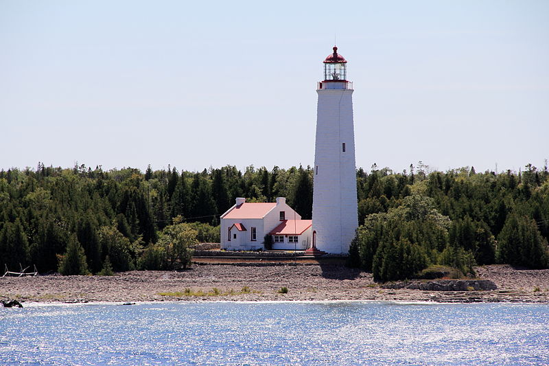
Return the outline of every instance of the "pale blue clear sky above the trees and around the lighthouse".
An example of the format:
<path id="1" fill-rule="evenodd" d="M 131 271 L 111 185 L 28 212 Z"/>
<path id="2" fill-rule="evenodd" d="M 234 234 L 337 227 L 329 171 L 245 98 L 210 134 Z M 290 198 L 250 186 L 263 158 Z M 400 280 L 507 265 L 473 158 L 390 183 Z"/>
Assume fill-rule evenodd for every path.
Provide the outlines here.
<path id="1" fill-rule="evenodd" d="M 0 0 L 0 170 L 313 165 L 334 42 L 358 167 L 549 159 L 549 1 Z"/>

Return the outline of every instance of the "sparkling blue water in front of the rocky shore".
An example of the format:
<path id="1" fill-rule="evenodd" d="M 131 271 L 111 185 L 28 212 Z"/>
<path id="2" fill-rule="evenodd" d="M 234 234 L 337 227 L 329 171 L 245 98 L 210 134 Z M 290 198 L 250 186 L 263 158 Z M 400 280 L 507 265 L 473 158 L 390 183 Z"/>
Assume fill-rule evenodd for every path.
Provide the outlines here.
<path id="1" fill-rule="evenodd" d="M 549 305 L 0 308 L 1 365 L 549 365 Z"/>

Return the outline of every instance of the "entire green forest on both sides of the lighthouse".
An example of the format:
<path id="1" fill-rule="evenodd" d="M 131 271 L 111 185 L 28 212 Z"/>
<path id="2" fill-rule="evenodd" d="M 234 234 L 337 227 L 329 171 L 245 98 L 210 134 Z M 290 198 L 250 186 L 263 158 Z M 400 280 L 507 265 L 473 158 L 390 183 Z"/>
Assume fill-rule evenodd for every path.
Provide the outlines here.
<path id="1" fill-rule="evenodd" d="M 219 242 L 219 217 L 235 202 L 285 196 L 312 216 L 310 167 L 202 172 L 85 165 L 0 171 L 0 264 L 41 273 L 100 273 L 185 266 L 196 242 Z M 351 264 L 379 280 L 409 278 L 430 264 L 547 268 L 549 172 L 474 168 L 431 172 L 357 170 L 360 227 Z"/>

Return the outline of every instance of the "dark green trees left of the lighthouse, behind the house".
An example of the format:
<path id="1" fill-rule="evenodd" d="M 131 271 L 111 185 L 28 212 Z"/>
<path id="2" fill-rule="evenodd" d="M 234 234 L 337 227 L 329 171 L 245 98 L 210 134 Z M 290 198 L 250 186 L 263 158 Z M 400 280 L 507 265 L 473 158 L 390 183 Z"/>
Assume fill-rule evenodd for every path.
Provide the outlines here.
<path id="1" fill-rule="evenodd" d="M 85 165 L 0 171 L 0 264 L 40 273 L 186 266 L 196 242 L 219 242 L 237 196 L 288 203 L 310 218 L 312 170 L 234 166 L 202 172 Z M 297 199 L 299 198 L 299 199 Z"/>

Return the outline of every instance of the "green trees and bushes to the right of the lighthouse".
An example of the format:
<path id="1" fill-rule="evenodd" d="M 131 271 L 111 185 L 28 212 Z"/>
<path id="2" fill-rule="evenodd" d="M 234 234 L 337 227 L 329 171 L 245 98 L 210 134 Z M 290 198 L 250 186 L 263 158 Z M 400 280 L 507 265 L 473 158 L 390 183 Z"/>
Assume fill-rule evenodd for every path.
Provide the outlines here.
<path id="1" fill-rule="evenodd" d="M 351 263 L 381 281 L 406 279 L 429 265 L 473 273 L 477 264 L 548 268 L 549 172 L 393 173 L 358 170 L 360 225 Z"/>

